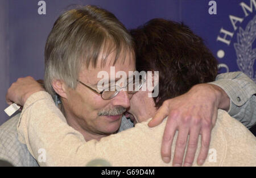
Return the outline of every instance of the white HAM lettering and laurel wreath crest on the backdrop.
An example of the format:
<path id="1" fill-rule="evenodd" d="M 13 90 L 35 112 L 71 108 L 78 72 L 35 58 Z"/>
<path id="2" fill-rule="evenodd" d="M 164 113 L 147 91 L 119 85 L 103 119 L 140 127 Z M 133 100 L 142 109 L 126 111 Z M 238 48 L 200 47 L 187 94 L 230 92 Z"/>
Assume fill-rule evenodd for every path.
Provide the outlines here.
<path id="1" fill-rule="evenodd" d="M 249 2 L 249 3 L 248 3 Z M 247 3 L 240 2 L 239 5 L 244 13 L 244 16 L 229 15 L 230 22 L 233 26 L 234 31 L 225 30 L 221 28 L 220 33 L 217 36 L 217 42 L 225 43 L 229 47 L 234 47 L 236 52 L 237 67 L 241 72 L 247 74 L 254 82 L 256 82 L 256 68 L 254 69 L 256 60 L 256 0 L 248 0 Z M 249 22 L 241 26 L 241 23 L 247 18 Z M 234 39 L 233 39 L 234 38 Z M 234 40 L 233 45 L 230 45 L 232 39 Z M 224 57 L 225 52 L 220 49 L 217 52 L 217 57 Z M 219 64 L 219 68 L 226 68 L 229 72 L 228 65 L 222 63 Z"/>

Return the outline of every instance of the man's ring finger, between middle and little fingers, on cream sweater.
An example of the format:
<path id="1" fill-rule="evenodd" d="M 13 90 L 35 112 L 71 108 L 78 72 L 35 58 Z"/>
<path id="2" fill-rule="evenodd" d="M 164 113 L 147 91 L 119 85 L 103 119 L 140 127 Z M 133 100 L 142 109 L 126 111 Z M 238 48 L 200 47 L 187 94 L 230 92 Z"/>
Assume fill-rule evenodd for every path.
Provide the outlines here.
<path id="1" fill-rule="evenodd" d="M 195 159 L 200 127 L 192 128 L 189 133 L 188 148 L 184 160 L 184 166 L 191 166 Z"/>

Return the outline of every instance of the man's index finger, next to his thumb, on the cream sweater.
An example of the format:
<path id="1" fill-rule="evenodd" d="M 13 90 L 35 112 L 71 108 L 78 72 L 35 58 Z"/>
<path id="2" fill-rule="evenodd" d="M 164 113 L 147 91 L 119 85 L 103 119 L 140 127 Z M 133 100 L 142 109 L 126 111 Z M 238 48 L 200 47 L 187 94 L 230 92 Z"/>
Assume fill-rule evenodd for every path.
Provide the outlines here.
<path id="1" fill-rule="evenodd" d="M 168 117 L 166 122 L 166 128 L 164 129 L 162 146 L 161 146 L 161 156 L 163 162 L 170 163 L 171 160 L 171 148 L 172 142 L 174 140 L 174 135 L 176 133 L 176 123 L 172 122 L 172 119 Z"/>

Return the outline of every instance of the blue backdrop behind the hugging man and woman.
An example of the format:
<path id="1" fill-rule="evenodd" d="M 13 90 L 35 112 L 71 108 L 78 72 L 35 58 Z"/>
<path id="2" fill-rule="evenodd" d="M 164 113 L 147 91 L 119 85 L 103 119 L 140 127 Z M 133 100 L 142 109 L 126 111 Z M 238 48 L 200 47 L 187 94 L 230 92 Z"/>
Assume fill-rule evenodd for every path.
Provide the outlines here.
<path id="1" fill-rule="evenodd" d="M 256 81 L 256 0 L 0 0 L 0 124 L 5 94 L 18 77 L 43 78 L 44 45 L 57 16 L 69 5 L 98 5 L 114 13 L 127 28 L 152 18 L 184 22 L 205 40 L 220 63 L 220 72 L 242 71 Z"/>

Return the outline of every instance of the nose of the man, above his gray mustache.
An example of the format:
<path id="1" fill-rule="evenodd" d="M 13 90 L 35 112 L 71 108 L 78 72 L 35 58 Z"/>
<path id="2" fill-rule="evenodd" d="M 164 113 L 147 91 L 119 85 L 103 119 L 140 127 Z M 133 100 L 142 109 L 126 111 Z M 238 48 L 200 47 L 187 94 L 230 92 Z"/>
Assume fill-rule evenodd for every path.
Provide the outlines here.
<path id="1" fill-rule="evenodd" d="M 128 108 L 130 107 L 130 94 L 127 93 L 127 91 L 123 91 L 121 90 L 117 96 L 115 96 L 113 99 L 112 99 L 112 104 L 114 106 L 122 106 L 122 107 L 125 107 L 125 108 Z"/>

